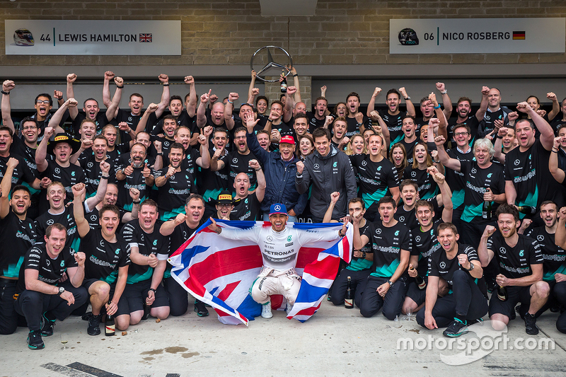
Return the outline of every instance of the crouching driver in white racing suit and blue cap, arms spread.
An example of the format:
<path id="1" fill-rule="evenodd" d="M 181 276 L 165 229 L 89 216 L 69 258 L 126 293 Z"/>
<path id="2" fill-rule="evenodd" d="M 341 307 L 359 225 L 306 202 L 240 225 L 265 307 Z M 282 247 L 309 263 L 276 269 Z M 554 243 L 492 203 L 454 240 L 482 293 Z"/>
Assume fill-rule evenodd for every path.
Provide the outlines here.
<path id="1" fill-rule="evenodd" d="M 338 234 L 335 231 L 299 230 L 287 227 L 287 209 L 284 204 L 272 204 L 270 207 L 271 226 L 253 227 L 235 230 L 223 229 L 211 218 L 211 231 L 231 240 L 249 240 L 260 246 L 263 267 L 250 289 L 253 300 L 262 304 L 261 316 L 272 318 L 271 298 L 281 294 L 287 300 L 287 313 L 291 311 L 296 296 L 301 288 L 301 278 L 295 272 L 299 249 L 306 243 L 318 240 L 336 240 L 346 234 L 346 224 Z"/>

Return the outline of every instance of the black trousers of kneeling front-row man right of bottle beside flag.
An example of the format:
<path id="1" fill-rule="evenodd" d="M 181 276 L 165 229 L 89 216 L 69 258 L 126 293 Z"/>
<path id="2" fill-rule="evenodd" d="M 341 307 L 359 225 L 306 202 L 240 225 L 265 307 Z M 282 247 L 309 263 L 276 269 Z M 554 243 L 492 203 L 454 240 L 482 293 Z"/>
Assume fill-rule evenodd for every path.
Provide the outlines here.
<path id="1" fill-rule="evenodd" d="M 385 297 L 379 296 L 377 289 L 381 284 L 388 281 L 388 277 L 373 277 L 369 275 L 367 278 L 366 288 L 362 293 L 360 300 L 359 313 L 364 317 L 372 317 L 379 309 L 383 307 L 383 315 L 388 320 L 394 320 L 395 316 L 401 313 L 401 306 L 405 301 L 407 293 L 407 281 L 405 277 L 400 277 L 397 282 L 387 291 Z"/>

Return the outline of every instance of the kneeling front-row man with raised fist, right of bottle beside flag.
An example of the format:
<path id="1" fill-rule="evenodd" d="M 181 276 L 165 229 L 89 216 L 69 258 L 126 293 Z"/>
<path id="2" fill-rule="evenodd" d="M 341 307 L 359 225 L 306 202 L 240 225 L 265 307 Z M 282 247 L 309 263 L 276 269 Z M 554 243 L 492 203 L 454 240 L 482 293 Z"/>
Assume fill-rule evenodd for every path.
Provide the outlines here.
<path id="1" fill-rule="evenodd" d="M 369 224 L 359 233 L 362 214 L 354 216 L 354 250 L 361 250 L 370 243 L 374 251 L 371 274 L 362 293 L 359 313 L 369 318 L 383 307 L 383 315 L 394 320 L 401 312 L 401 304 L 407 292 L 405 269 L 409 264 L 412 240 L 409 228 L 393 218 L 395 201 L 392 197 L 379 199 L 381 222 Z"/>

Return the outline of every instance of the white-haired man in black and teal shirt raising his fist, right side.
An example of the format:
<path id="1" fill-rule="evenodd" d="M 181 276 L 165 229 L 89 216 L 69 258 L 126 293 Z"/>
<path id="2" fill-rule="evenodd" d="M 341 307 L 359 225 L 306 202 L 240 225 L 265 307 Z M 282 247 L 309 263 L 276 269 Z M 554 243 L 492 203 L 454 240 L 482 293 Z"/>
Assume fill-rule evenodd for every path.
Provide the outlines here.
<path id="1" fill-rule="evenodd" d="M 472 245 L 476 250 L 485 226 L 495 226 L 495 209 L 499 204 L 506 203 L 505 180 L 503 178 L 503 167 L 492 163 L 494 149 L 488 139 L 478 139 L 473 145 L 474 157 L 472 160 L 458 160 L 451 158 L 444 150 L 444 136 L 434 139 L 437 144 L 440 162 L 464 175 L 466 186 L 464 188 L 464 209 L 461 216 L 462 242 Z M 487 202 L 487 203 L 486 203 Z M 484 204 L 490 211 L 484 210 Z"/>

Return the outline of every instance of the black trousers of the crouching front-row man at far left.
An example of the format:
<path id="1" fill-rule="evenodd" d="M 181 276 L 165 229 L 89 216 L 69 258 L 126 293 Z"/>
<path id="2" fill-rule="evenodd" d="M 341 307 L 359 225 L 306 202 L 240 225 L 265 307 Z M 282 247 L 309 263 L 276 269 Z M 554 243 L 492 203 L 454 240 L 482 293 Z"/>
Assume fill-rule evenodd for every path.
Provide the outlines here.
<path id="1" fill-rule="evenodd" d="M 88 300 L 88 291 L 82 286 L 75 288 L 68 280 L 59 286 L 63 286 L 66 291 L 71 292 L 75 298 L 75 303 L 69 305 L 67 301 L 57 294 L 42 294 L 37 291 L 25 289 L 14 304 L 16 312 L 23 315 L 28 321 L 30 331 L 41 330 L 41 315 L 50 311 L 58 320 L 64 320 L 71 315 L 79 306 Z"/>

